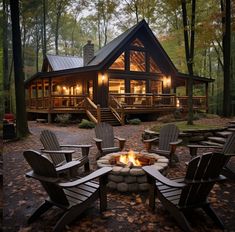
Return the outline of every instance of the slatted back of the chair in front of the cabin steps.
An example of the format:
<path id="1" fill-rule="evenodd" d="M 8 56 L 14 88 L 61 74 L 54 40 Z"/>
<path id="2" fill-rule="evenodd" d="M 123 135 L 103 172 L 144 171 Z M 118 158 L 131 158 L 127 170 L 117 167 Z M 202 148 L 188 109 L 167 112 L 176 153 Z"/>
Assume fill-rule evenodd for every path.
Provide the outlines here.
<path id="1" fill-rule="evenodd" d="M 98 123 L 95 127 L 96 138 L 102 139 L 103 148 L 114 147 L 113 127 L 105 122 Z"/>

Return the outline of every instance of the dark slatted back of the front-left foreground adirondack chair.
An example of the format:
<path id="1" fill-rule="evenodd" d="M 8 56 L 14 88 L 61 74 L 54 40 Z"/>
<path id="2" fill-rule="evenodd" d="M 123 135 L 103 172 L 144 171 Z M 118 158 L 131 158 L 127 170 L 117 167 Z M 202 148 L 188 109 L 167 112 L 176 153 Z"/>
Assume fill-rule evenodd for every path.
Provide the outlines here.
<path id="1" fill-rule="evenodd" d="M 50 200 L 60 205 L 69 205 L 63 189 L 59 188 L 56 184 L 47 182 L 48 178 L 57 178 L 55 166 L 49 159 L 42 156 L 40 153 L 28 150 L 23 153 L 24 158 L 32 168 L 35 174 L 45 177 L 45 181 L 39 180 L 50 197 Z"/>

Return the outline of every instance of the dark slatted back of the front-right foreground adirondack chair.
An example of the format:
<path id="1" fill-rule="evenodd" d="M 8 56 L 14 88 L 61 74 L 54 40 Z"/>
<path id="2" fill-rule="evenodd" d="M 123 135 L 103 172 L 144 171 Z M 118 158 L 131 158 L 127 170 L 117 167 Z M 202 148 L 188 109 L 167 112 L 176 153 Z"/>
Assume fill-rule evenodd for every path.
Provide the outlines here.
<path id="1" fill-rule="evenodd" d="M 218 180 L 226 157 L 221 153 L 206 153 L 192 159 L 185 176 L 179 206 L 197 205 L 206 201 L 213 185 Z"/>

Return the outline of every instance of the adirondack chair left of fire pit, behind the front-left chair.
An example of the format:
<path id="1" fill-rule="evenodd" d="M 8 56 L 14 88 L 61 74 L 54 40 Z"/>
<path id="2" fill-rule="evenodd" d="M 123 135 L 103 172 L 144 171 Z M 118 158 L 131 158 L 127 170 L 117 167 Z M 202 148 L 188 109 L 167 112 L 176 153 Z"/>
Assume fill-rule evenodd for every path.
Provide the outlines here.
<path id="1" fill-rule="evenodd" d="M 75 150 L 62 150 L 62 148 L 81 148 L 82 158 L 74 160 L 73 163 L 77 166 L 77 163 L 79 162 L 80 166 L 84 165 L 85 171 L 90 171 L 88 154 L 91 145 L 60 145 L 56 135 L 50 130 L 43 130 L 41 132 L 40 141 L 44 147 L 42 152 L 47 153 L 50 156 L 56 167 L 71 162 L 72 154 L 75 152 Z"/>

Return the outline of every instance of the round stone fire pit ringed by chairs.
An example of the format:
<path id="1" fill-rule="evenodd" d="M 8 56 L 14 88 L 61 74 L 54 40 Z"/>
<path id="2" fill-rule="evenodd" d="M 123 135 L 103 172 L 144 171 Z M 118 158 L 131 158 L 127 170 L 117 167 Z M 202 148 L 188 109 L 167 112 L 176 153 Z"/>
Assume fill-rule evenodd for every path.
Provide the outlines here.
<path id="1" fill-rule="evenodd" d="M 110 153 L 101 157 L 97 161 L 97 166 L 113 167 L 113 170 L 108 175 L 108 187 L 119 192 L 136 192 L 146 191 L 149 188 L 147 176 L 141 166 L 135 166 L 131 162 L 123 164 L 119 162 L 121 155 L 127 155 L 125 152 Z M 133 152 L 140 160 L 143 161 L 143 166 L 153 165 L 158 171 L 164 173 L 168 167 L 169 160 L 155 153 Z"/>

